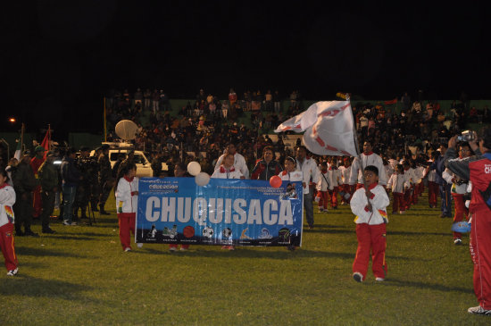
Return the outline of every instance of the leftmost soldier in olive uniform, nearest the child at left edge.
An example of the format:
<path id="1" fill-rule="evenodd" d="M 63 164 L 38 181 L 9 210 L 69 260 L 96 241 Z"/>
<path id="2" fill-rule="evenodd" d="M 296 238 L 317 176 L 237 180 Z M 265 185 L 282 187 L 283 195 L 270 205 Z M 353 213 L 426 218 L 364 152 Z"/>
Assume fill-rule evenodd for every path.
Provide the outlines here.
<path id="1" fill-rule="evenodd" d="M 37 233 L 30 230 L 32 223 L 32 191 L 37 187 L 37 180 L 30 167 L 30 152 L 25 151 L 17 170 L 13 173 L 13 185 L 17 200 L 13 205 L 15 212 L 15 235 L 39 237 Z M 24 225 L 22 232 L 21 226 Z"/>

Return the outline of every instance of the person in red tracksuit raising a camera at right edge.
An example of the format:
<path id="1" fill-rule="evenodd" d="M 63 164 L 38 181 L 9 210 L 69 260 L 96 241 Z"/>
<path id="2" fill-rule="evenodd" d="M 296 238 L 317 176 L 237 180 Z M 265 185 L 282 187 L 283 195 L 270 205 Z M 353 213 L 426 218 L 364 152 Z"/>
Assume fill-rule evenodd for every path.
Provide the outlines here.
<path id="1" fill-rule="evenodd" d="M 475 132 L 463 136 L 467 137 L 461 136 L 463 139 L 459 140 L 469 141 L 476 155 L 454 160 L 457 157 L 455 145 L 459 138 L 454 136 L 448 141 L 445 165 L 456 176 L 472 183 L 469 205 L 472 215 L 470 255 L 474 263 L 474 293 L 479 305 L 470 307 L 468 312 L 491 315 L 491 208 L 488 204 L 491 203 L 491 127 L 483 128 L 479 138 Z"/>

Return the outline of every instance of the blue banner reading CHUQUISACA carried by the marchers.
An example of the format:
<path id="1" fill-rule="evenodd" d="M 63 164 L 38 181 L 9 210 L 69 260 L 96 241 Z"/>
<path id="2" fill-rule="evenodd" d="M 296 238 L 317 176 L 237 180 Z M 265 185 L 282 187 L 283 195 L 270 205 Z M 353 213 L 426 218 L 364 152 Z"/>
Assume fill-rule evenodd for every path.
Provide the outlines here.
<path id="1" fill-rule="evenodd" d="M 302 181 L 142 178 L 136 241 L 220 246 L 296 246 L 302 243 Z"/>

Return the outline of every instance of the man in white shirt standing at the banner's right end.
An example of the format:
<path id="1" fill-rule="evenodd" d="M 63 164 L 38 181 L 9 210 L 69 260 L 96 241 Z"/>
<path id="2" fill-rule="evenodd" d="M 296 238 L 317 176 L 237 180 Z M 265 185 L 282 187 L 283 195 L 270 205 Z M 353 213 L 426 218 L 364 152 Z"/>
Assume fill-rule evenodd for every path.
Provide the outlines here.
<path id="1" fill-rule="evenodd" d="M 304 191 L 305 218 L 307 219 L 307 224 L 309 224 L 309 229 L 313 229 L 313 203 L 309 183 L 312 179 L 312 183 L 315 186 L 315 182 L 320 178 L 320 171 L 315 160 L 307 157 L 307 148 L 302 145 L 296 147 L 296 170 L 302 171 L 304 174 L 302 186 Z"/>

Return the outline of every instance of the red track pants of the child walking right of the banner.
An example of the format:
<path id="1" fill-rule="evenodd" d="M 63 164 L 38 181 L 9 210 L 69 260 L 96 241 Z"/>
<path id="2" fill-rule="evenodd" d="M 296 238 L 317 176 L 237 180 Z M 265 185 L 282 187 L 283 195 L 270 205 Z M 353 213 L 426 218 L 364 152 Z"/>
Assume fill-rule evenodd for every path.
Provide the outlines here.
<path id="1" fill-rule="evenodd" d="M 361 272 L 363 280 L 366 279 L 371 251 L 371 271 L 376 278 L 385 279 L 387 275 L 386 224 L 356 224 L 356 238 L 358 238 L 358 248 L 354 257 L 353 272 Z"/>

